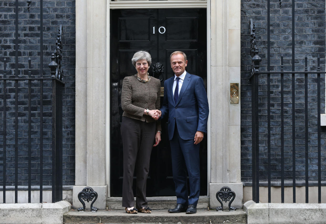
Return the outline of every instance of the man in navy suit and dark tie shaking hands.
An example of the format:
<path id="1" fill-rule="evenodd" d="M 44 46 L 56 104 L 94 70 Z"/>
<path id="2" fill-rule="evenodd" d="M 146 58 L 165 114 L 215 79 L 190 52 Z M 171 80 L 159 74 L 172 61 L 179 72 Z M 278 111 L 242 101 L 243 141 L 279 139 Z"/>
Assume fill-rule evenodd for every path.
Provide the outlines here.
<path id="1" fill-rule="evenodd" d="M 208 101 L 202 78 L 185 71 L 184 52 L 170 55 L 174 76 L 164 82 L 163 106 L 158 113 L 168 116 L 168 134 L 171 146 L 172 172 L 177 205 L 170 213 L 197 212 L 200 191 L 199 143 L 207 132 Z M 187 175 L 190 196 L 188 198 Z"/>

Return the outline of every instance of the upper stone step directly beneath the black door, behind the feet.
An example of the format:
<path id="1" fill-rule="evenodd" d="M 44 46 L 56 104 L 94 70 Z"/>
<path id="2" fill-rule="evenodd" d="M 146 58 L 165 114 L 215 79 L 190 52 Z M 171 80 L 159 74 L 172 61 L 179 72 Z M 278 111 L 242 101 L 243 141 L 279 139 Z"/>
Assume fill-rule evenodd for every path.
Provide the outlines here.
<path id="1" fill-rule="evenodd" d="M 135 198 L 136 201 L 136 198 Z M 151 209 L 170 209 L 177 203 L 177 197 L 147 197 L 148 206 Z M 108 209 L 124 210 L 122 207 L 122 197 L 110 197 L 106 200 Z M 96 204 L 94 204 L 96 206 Z M 206 209 L 209 206 L 209 196 L 200 196 L 197 204 L 198 209 Z"/>

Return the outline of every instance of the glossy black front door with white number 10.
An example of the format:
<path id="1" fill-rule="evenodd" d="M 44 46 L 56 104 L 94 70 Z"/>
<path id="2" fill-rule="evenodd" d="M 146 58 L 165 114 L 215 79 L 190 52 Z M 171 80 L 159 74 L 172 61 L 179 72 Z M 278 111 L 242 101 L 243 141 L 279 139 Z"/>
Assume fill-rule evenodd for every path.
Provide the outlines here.
<path id="1" fill-rule="evenodd" d="M 172 77 L 170 54 L 187 55 L 186 70 L 207 83 L 206 9 L 113 9 L 110 11 L 110 81 L 111 81 L 111 196 L 122 196 L 123 148 L 121 140 L 122 109 L 120 94 L 126 76 L 137 73 L 131 64 L 133 54 L 146 50 L 152 64 L 164 65 L 163 81 Z M 149 71 L 151 68 L 149 69 Z M 161 102 L 163 97 L 161 97 Z M 173 196 L 174 182 L 167 121 L 162 120 L 162 141 L 153 147 L 147 179 L 147 196 Z M 135 177 L 136 178 L 136 177 Z M 207 195 L 207 138 L 200 146 L 200 195 Z M 133 184 L 134 192 L 136 182 Z"/>

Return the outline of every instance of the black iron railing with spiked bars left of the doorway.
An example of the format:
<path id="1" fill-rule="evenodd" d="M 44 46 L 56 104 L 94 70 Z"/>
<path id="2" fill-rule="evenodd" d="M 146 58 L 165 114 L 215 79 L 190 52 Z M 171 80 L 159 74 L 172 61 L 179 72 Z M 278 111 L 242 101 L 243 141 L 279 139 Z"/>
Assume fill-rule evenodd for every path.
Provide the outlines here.
<path id="1" fill-rule="evenodd" d="M 64 86 L 61 68 L 62 26 L 59 27 L 55 44 L 56 48 L 49 64 L 51 69 L 49 77 L 43 77 L 42 66 L 35 69 L 39 70 L 39 75 L 32 76 L 30 58 L 27 77 L 19 75 L 17 53 L 15 75 L 8 77 L 7 62 L 4 59 L 3 75 L 0 78 L 2 93 L 0 97 L 2 119 L 0 120 L 3 121 L 2 125 L 0 123 L 3 129 L 0 133 L 0 136 L 2 135 L 0 147 L 3 148 L 3 203 L 6 203 L 7 190 L 15 192 L 15 203 L 18 202 L 18 190 L 27 190 L 30 203 L 32 188 L 39 190 L 41 203 L 44 186 L 52 189 L 52 202 L 62 200 L 62 88 Z M 18 44 L 16 44 L 16 49 L 18 49 Z M 42 62 L 42 50 L 40 52 Z M 24 72 L 22 71 L 21 74 Z M 52 141 L 50 141 L 51 135 Z M 52 156 L 49 156 L 50 150 Z M 46 159 L 43 157 L 44 154 L 47 156 Z M 52 172 L 43 173 L 43 167 L 48 167 L 50 164 L 52 164 Z M 26 172 L 27 175 L 25 175 Z M 47 184 L 44 185 L 44 183 Z M 49 185 L 52 187 L 49 188 Z"/>

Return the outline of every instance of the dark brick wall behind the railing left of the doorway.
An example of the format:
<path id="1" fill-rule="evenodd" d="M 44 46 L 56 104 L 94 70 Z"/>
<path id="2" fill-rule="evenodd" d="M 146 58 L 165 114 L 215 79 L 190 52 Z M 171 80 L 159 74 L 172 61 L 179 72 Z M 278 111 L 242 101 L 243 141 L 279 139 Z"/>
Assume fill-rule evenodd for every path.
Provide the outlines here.
<path id="1" fill-rule="evenodd" d="M 4 59 L 7 75 L 15 73 L 15 1 L 0 1 L 0 76 Z M 75 181 L 75 1 L 43 1 L 43 77 L 49 77 L 48 64 L 54 52 L 59 25 L 63 25 L 63 185 Z M 19 1 L 19 76 L 28 74 L 28 58 L 32 61 L 32 75 L 39 76 L 40 68 L 40 2 L 32 0 L 30 12 L 27 2 Z M 14 184 L 14 82 L 7 83 L 7 185 Z M 44 185 L 51 183 L 51 83 L 44 83 L 43 173 Z M 19 82 L 19 153 L 18 184 L 27 185 L 28 107 L 27 82 Z M 39 184 L 39 82 L 32 83 L 32 185 Z M 3 181 L 3 81 L 0 82 L 0 182 Z"/>

